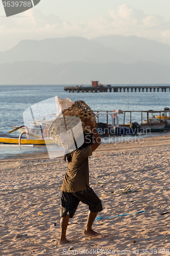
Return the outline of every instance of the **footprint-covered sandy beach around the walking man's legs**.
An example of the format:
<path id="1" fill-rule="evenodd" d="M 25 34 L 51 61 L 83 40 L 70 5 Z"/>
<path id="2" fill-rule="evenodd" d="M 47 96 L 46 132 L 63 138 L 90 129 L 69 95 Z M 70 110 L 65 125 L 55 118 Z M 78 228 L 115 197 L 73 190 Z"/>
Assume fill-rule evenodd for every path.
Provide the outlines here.
<path id="1" fill-rule="evenodd" d="M 1 159 L 0 255 L 169 255 L 169 151 L 169 134 L 100 145 L 89 169 L 103 204 L 93 229 L 102 237 L 83 235 L 88 206 L 80 203 L 66 245 L 58 241 L 67 163 L 46 152 Z"/>

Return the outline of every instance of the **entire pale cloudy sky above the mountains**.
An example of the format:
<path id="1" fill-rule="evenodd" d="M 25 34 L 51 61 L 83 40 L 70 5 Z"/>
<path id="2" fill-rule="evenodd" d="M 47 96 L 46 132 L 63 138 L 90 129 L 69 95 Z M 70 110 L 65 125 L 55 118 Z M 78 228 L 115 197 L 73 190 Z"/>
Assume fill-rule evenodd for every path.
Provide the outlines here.
<path id="1" fill-rule="evenodd" d="M 169 0 L 41 0 L 34 8 L 6 17 L 0 2 L 0 51 L 20 40 L 136 35 L 170 45 Z"/>

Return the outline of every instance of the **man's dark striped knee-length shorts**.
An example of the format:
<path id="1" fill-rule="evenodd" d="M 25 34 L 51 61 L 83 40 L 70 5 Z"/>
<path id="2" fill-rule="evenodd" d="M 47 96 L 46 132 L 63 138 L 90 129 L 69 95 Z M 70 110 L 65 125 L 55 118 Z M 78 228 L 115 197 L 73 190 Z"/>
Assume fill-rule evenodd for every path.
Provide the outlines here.
<path id="1" fill-rule="evenodd" d="M 70 215 L 72 218 L 80 201 L 89 206 L 92 212 L 102 211 L 102 202 L 99 197 L 94 193 L 91 187 L 86 187 L 86 190 L 80 192 L 68 193 L 62 191 L 61 195 L 61 211 L 60 217 Z"/>

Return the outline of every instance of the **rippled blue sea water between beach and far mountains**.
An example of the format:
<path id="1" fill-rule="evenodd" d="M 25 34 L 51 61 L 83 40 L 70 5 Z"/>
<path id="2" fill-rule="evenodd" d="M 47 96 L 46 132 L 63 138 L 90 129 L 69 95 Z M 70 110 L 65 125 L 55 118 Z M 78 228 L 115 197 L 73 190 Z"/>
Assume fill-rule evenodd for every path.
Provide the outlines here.
<path id="1" fill-rule="evenodd" d="M 71 85 L 66 85 L 71 86 Z M 73 85 L 74 86 L 74 85 Z M 90 86 L 89 84 L 83 85 Z M 124 84 L 123 86 L 126 86 Z M 130 84 L 128 84 L 130 86 Z M 140 85 L 138 85 L 140 86 Z M 142 86 L 142 85 L 141 85 Z M 156 86 L 156 84 L 155 84 Z M 159 85 L 161 86 L 161 84 Z M 72 101 L 84 100 L 93 111 L 163 111 L 170 108 L 170 92 L 103 92 L 103 93 L 69 93 L 64 91 L 65 86 L 46 85 L 46 86 L 0 86 L 0 133 L 7 133 L 12 130 L 13 125 L 23 125 L 23 112 L 30 106 L 37 104 L 56 95 L 59 98 L 70 98 Z M 157 90 L 156 90 L 157 91 Z M 128 100 L 129 99 L 129 100 Z M 129 104 L 128 104 L 129 101 Z M 38 109 L 38 104 L 37 104 Z M 40 109 L 38 110 L 40 111 Z M 50 112 L 50 110 L 48 110 Z M 52 114 L 51 113 L 46 114 Z M 130 121 L 130 115 L 126 115 L 126 122 Z M 143 118 L 145 118 L 143 116 Z M 101 122 L 106 122 L 105 116 L 100 116 Z M 141 122 L 141 114 L 133 113 L 132 121 Z M 111 118 L 108 120 L 111 123 Z M 119 123 L 123 123 L 123 115 L 119 115 Z M 13 135 L 20 133 L 14 132 Z M 28 153 L 41 151 L 44 147 L 12 147 L 1 146 L 0 157 L 11 154 Z"/>

